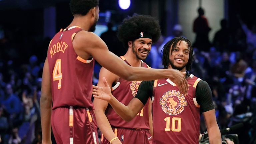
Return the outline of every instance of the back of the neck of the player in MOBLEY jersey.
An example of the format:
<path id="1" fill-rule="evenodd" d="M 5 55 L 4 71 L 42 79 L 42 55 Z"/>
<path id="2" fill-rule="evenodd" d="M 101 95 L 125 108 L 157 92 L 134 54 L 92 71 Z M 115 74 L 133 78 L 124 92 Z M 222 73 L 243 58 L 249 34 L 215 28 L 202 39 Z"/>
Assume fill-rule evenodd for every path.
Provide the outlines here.
<path id="1" fill-rule="evenodd" d="M 91 27 L 91 24 L 88 22 L 89 18 L 85 16 L 74 16 L 73 21 L 69 24 L 69 27 L 79 26 L 82 30 L 88 31 Z"/>

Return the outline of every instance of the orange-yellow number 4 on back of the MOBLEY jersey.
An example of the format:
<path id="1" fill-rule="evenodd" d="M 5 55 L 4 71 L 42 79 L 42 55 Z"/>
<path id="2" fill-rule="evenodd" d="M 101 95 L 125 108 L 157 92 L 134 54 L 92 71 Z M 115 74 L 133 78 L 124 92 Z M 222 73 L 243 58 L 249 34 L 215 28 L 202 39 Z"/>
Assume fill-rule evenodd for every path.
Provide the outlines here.
<path id="1" fill-rule="evenodd" d="M 53 81 L 59 80 L 58 89 L 60 89 L 61 88 L 61 79 L 62 79 L 61 59 L 56 60 L 55 66 L 53 68 L 52 76 L 53 76 Z"/>

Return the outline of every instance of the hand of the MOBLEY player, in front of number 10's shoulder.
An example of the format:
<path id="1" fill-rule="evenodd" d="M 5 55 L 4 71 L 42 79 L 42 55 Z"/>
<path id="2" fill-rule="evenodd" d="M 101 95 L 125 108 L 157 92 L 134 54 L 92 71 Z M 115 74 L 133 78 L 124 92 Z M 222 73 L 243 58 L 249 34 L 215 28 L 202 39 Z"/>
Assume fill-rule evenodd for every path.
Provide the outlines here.
<path id="1" fill-rule="evenodd" d="M 180 92 L 184 96 L 186 96 L 188 94 L 188 89 L 189 89 L 188 82 L 184 76 L 184 75 L 186 75 L 186 72 L 181 72 L 181 71 L 175 70 L 175 69 L 171 69 L 171 70 L 172 70 L 172 72 L 171 72 L 172 75 L 169 77 L 170 80 L 172 82 L 174 82 L 178 86 Z"/>

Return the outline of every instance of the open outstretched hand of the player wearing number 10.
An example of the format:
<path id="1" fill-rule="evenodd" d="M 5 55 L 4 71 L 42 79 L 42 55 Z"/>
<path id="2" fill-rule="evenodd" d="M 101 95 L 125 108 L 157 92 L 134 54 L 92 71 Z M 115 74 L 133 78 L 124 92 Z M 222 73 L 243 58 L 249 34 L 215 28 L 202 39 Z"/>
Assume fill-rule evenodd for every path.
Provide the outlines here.
<path id="1" fill-rule="evenodd" d="M 107 83 L 107 80 L 105 79 L 105 77 L 103 77 L 103 83 L 104 83 L 104 87 L 98 87 L 93 85 L 92 86 L 92 94 L 94 98 L 98 98 L 98 99 L 102 99 L 105 101 L 109 101 L 111 98 L 111 89 Z"/>

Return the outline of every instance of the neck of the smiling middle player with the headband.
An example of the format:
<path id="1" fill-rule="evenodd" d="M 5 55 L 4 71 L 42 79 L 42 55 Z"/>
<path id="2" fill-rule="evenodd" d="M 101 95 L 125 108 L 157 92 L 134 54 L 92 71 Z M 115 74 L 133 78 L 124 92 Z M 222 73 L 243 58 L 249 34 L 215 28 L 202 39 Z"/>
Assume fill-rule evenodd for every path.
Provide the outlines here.
<path id="1" fill-rule="evenodd" d="M 128 51 L 124 55 L 124 58 L 128 61 L 128 63 L 133 67 L 140 67 L 141 60 L 136 57 L 136 55 L 128 48 Z"/>

